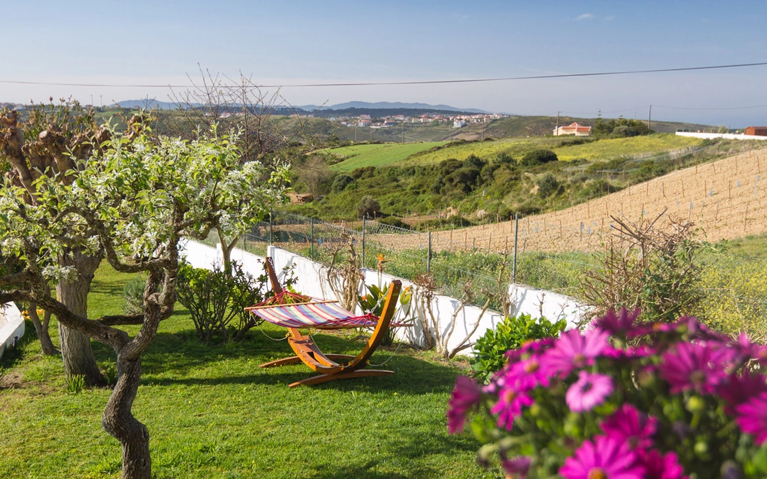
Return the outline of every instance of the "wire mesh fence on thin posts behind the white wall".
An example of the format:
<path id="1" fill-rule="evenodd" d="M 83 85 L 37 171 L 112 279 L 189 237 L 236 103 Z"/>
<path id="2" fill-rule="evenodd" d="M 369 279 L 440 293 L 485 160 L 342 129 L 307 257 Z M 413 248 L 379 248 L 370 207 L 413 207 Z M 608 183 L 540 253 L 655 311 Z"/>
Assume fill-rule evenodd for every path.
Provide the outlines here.
<path id="1" fill-rule="evenodd" d="M 578 298 L 584 275 L 601 267 L 598 246 L 612 226 L 581 221 L 573 228 L 530 217 L 510 221 L 503 231 L 419 232 L 380 221 L 328 223 L 272 212 L 245 235 L 242 247 L 264 255 L 274 244 L 322 264 L 347 261 L 353 248 L 364 267 L 411 281 L 430 275 L 441 294 L 461 298 L 468 292 L 477 305 L 491 297 L 491 308 L 501 310 L 499 293 L 512 283 Z M 726 254 L 704 262 L 701 313 L 732 323 L 744 321 L 739 310 L 748 311 L 747 320 L 764 323 L 767 333 L 767 260 Z"/>

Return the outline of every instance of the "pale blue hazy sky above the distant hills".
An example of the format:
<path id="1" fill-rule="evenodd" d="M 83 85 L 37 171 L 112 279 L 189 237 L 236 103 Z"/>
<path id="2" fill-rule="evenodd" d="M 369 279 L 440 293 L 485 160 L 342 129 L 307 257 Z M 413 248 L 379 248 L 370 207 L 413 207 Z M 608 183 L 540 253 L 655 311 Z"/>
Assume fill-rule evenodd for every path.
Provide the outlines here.
<path id="1" fill-rule="evenodd" d="M 607 77 L 366 87 L 767 62 L 767 2 L 56 2 L 3 5 L 0 82 L 180 85 L 199 67 L 283 85 L 292 105 L 444 103 L 522 115 L 767 125 L 767 65 Z M 198 67 L 199 65 L 199 67 Z M 275 88 L 267 89 L 270 92 Z M 0 102 L 170 100 L 168 87 L 0 83 Z"/>

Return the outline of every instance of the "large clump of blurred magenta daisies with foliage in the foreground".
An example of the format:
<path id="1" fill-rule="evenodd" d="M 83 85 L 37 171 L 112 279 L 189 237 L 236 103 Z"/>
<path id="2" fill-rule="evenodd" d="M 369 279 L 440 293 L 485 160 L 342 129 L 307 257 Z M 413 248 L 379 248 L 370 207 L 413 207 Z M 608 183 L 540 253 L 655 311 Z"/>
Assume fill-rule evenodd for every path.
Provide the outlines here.
<path id="1" fill-rule="evenodd" d="M 767 477 L 767 347 L 637 315 L 512 349 L 489 385 L 459 377 L 449 431 L 479 412 L 478 460 L 509 477 Z"/>

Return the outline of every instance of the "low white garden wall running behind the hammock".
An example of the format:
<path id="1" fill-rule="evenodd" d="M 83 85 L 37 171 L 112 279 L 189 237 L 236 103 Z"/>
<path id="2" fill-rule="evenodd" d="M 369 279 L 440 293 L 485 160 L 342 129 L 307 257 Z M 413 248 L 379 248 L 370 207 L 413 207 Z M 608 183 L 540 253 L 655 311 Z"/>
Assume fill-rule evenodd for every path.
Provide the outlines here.
<path id="1" fill-rule="evenodd" d="M 194 267 L 209 268 L 212 264 L 222 261 L 220 249 L 194 241 L 189 241 L 186 244 L 183 254 L 186 256 L 186 260 Z M 297 281 L 294 287 L 301 294 L 322 299 L 339 299 L 334 290 L 329 286 L 328 281 L 324 279 L 323 265 L 321 263 L 311 261 L 308 258 L 274 246 L 268 247 L 267 255 L 274 261 L 275 270 L 280 280 L 282 280 L 282 269 L 295 264 L 294 271 Z M 242 267 L 245 271 L 254 275 L 262 274 L 262 261 L 264 261 L 264 258 L 235 248 L 232 251 L 232 259 L 242 261 Z M 403 287 L 413 286 L 413 283 L 410 281 L 393 277 L 390 274 L 382 274 L 379 278 L 378 272 L 370 269 L 365 269 L 364 275 L 365 284 L 378 284 L 380 281 L 383 285 L 389 284 L 394 279 L 399 279 L 402 281 Z M 568 329 L 574 327 L 586 311 L 586 308 L 579 305 L 571 297 L 522 285 L 512 285 L 509 288 L 509 297 L 512 299 L 513 314 L 528 313 L 532 317 L 545 316 L 552 321 L 565 319 L 568 321 Z M 459 306 L 460 301 L 454 297 L 436 295 L 434 298 L 433 311 L 439 317 L 439 327 L 443 331 L 446 332 L 449 328 L 450 319 Z M 481 312 L 482 309 L 479 307 L 467 306 L 459 313 L 456 329 L 448 343 L 449 348 L 452 349 L 457 346 L 469 334 Z M 479 318 L 479 327 L 476 333 L 469 338 L 469 342 L 474 342 L 486 330 L 495 327 L 501 320 L 500 313 L 492 310 L 486 311 L 482 318 Z M 420 326 L 400 328 L 397 336 L 400 340 L 407 341 L 410 344 L 423 345 L 423 330 L 421 330 Z M 465 353 L 470 352 L 471 349 L 465 350 Z"/>

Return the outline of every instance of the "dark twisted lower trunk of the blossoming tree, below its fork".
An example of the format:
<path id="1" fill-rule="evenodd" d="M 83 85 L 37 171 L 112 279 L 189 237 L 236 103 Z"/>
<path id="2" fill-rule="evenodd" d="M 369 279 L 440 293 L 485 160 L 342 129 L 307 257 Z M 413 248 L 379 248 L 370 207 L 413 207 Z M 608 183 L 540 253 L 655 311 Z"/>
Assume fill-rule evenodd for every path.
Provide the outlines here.
<path id="1" fill-rule="evenodd" d="M 104 430 L 123 446 L 123 479 L 150 479 L 149 429 L 133 417 L 130 408 L 139 389 L 141 359 L 125 359 L 117 354 L 117 385 L 101 416 Z"/>

